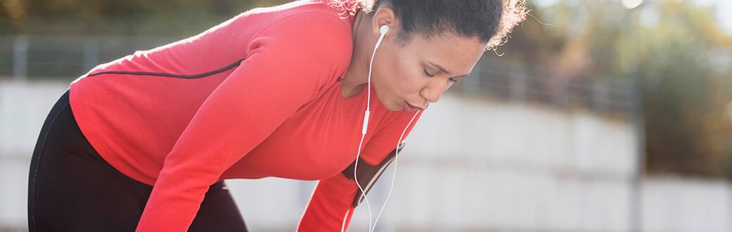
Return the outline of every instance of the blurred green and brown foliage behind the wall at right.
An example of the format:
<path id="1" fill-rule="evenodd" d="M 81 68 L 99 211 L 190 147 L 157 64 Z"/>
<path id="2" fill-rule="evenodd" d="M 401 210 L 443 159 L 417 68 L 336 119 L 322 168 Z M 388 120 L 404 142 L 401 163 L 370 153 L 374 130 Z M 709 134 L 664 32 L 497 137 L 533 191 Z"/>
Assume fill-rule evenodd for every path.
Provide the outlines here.
<path id="1" fill-rule="evenodd" d="M 524 23 L 507 56 L 589 76 L 640 76 L 647 170 L 732 179 L 732 37 L 712 7 L 560 0 L 532 9 L 546 24 Z"/>

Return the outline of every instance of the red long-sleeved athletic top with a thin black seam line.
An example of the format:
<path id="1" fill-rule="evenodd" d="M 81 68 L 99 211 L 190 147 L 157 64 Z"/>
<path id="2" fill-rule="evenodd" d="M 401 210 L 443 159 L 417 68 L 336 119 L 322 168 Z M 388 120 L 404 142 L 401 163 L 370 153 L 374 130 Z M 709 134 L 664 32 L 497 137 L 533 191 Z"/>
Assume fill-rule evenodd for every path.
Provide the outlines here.
<path id="1" fill-rule="evenodd" d="M 299 230 L 340 230 L 359 191 L 340 172 L 356 158 L 367 95 L 343 98 L 337 81 L 353 21 L 316 0 L 255 9 L 72 83 L 94 149 L 154 186 L 138 231 L 185 231 L 209 185 L 266 176 L 320 180 Z M 372 98 L 361 155 L 376 165 L 414 113 L 387 110 L 373 89 Z"/>

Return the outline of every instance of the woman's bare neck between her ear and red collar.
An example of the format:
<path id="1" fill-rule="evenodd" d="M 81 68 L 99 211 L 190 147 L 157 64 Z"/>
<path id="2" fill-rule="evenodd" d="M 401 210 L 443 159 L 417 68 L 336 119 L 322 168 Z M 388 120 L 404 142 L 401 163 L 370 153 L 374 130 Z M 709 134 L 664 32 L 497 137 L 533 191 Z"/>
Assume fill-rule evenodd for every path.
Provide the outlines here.
<path id="1" fill-rule="evenodd" d="M 364 12 L 356 12 L 356 18 L 354 19 L 353 39 L 354 48 L 351 54 L 351 64 L 348 65 L 346 75 L 343 76 L 341 82 L 341 96 L 342 97 L 354 97 L 359 94 L 368 84 L 368 62 L 369 62 L 369 51 L 365 49 L 368 47 L 368 42 L 364 41 L 367 36 L 368 26 L 367 22 L 370 22 L 368 17 L 364 18 Z M 366 31 L 362 31 L 366 29 Z"/>

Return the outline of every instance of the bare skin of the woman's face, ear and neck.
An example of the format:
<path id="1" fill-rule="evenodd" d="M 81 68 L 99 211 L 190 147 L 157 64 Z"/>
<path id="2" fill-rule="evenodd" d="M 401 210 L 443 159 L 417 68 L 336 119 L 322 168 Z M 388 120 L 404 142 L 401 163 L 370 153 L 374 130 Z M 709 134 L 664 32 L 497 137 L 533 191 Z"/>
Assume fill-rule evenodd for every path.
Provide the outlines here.
<path id="1" fill-rule="evenodd" d="M 391 111 L 409 112 L 437 102 L 452 83 L 470 74 L 485 50 L 486 42 L 477 37 L 449 32 L 429 38 L 413 34 L 400 41 L 396 33 L 400 23 L 391 9 L 359 12 L 354 21 L 354 52 L 341 86 L 343 97 L 365 89 L 373 46 L 383 25 L 389 26 L 389 32 L 376 51 L 371 83 L 381 104 Z"/>

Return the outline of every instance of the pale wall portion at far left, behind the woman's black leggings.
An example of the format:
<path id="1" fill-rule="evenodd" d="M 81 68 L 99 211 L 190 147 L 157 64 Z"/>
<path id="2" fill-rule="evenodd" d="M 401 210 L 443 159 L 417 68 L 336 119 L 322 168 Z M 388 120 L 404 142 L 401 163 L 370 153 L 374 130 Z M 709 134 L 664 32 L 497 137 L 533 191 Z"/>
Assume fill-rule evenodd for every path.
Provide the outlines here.
<path id="1" fill-rule="evenodd" d="M 0 82 L 0 231 L 27 226 L 31 153 L 48 111 L 66 88 L 62 83 Z"/>

